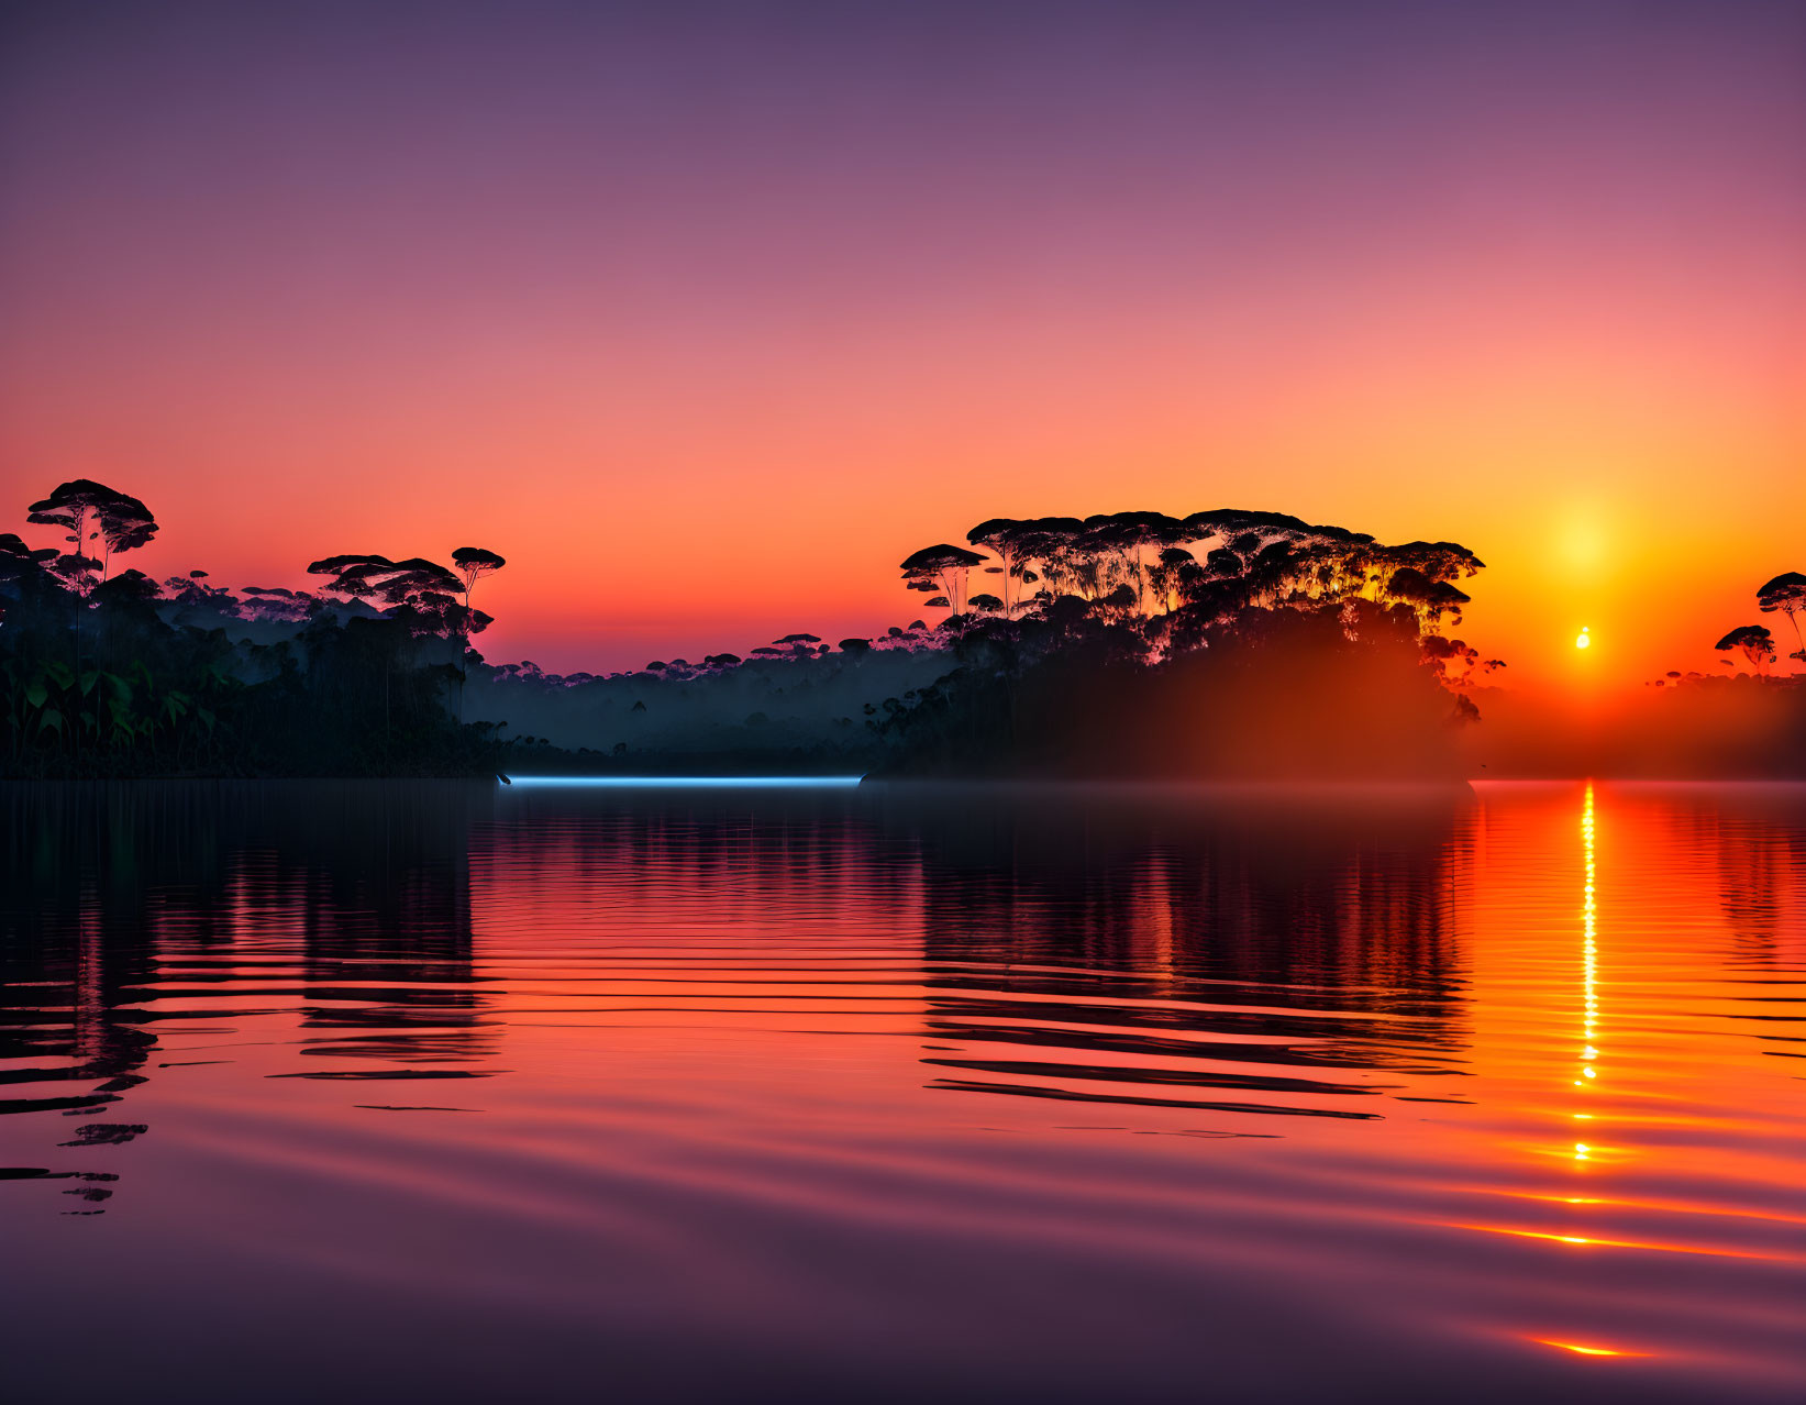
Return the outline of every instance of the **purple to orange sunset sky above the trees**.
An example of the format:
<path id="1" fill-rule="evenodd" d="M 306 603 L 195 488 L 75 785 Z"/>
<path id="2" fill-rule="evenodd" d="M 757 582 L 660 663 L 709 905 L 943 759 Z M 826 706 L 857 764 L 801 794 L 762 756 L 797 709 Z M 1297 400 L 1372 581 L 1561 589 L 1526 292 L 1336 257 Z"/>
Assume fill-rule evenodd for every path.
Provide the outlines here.
<path id="1" fill-rule="evenodd" d="M 13 4 L 0 531 L 482 545 L 567 672 L 1264 507 L 1472 547 L 1519 684 L 1710 668 L 1806 571 L 1802 74 L 1737 0 Z"/>

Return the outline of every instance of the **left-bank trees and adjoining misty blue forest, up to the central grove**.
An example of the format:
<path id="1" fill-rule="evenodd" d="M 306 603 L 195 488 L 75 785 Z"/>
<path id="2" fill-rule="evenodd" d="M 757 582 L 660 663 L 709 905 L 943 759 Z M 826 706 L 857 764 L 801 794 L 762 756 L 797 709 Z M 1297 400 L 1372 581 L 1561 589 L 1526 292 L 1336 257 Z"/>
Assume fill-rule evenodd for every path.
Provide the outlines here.
<path id="1" fill-rule="evenodd" d="M 945 672 L 923 619 L 627 674 L 489 666 L 475 594 L 506 560 L 480 547 L 325 556 L 318 591 L 233 591 L 121 569 L 159 524 L 105 484 L 61 484 L 27 520 L 60 545 L 0 533 L 11 777 L 863 771 L 874 721 Z"/>

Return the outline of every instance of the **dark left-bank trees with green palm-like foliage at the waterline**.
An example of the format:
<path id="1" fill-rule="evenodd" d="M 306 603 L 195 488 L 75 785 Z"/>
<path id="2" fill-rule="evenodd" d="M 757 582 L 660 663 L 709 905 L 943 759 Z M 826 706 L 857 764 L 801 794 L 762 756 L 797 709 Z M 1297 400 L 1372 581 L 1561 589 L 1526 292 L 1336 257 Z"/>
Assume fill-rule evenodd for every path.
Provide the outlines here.
<path id="1" fill-rule="evenodd" d="M 332 556 L 309 565 L 318 594 L 235 594 L 116 571 L 159 524 L 105 484 L 65 482 L 27 520 L 61 545 L 0 535 L 7 775 L 430 775 L 506 751 L 457 717 L 495 553 Z"/>

